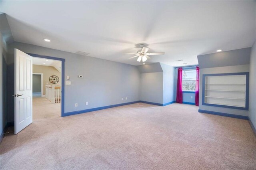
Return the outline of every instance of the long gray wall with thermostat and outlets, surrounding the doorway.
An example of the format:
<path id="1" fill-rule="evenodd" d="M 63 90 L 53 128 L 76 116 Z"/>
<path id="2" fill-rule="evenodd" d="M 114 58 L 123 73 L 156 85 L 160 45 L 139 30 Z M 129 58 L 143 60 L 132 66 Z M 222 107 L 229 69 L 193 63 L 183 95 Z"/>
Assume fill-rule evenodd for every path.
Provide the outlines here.
<path id="1" fill-rule="evenodd" d="M 136 66 L 14 42 L 8 45 L 8 77 L 14 77 L 14 48 L 66 59 L 65 80 L 69 75 L 71 85 L 65 85 L 65 113 L 140 100 L 140 72 Z M 80 79 L 78 75 L 84 78 Z M 13 93 L 14 79 L 10 79 L 8 96 Z M 128 99 L 122 101 L 125 97 Z M 89 105 L 85 105 L 86 101 Z M 11 122 L 14 120 L 14 102 L 12 99 L 8 102 L 8 122 Z"/>

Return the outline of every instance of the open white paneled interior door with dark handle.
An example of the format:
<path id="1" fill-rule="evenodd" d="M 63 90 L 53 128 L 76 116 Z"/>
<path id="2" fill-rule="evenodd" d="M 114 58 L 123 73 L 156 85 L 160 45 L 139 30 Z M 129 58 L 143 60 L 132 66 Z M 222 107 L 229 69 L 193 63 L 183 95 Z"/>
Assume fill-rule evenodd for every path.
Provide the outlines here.
<path id="1" fill-rule="evenodd" d="M 14 50 L 14 134 L 17 134 L 32 123 L 32 57 Z"/>

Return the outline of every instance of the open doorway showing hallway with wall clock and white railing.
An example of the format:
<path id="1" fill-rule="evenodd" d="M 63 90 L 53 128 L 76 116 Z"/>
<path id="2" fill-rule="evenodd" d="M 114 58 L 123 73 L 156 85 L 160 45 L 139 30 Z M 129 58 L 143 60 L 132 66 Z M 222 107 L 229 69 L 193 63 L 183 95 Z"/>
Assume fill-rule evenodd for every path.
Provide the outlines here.
<path id="1" fill-rule="evenodd" d="M 61 116 L 62 61 L 32 57 L 33 119 Z"/>

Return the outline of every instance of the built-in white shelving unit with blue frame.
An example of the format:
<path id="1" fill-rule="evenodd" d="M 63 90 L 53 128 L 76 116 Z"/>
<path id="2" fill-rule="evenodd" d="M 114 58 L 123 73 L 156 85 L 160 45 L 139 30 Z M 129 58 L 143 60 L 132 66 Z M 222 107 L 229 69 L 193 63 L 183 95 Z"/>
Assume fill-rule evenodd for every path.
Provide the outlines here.
<path id="1" fill-rule="evenodd" d="M 203 105 L 248 109 L 248 73 L 203 75 Z"/>

